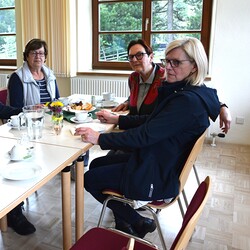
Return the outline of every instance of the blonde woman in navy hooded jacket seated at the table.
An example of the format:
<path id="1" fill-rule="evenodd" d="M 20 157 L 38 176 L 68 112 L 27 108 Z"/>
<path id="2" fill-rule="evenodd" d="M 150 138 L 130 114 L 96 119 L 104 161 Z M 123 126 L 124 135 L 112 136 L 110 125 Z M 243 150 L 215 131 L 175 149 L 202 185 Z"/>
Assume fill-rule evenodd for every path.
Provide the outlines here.
<path id="1" fill-rule="evenodd" d="M 178 194 L 180 171 L 199 136 L 220 112 L 216 90 L 203 85 L 207 57 L 196 38 L 173 41 L 165 52 L 166 81 L 159 88 L 158 104 L 150 116 L 115 116 L 97 113 L 101 122 L 119 124 L 121 133 L 99 134 L 78 128 L 83 141 L 102 149 L 130 150 L 130 154 L 97 158 L 85 174 L 85 188 L 98 201 L 106 188 L 134 200 L 151 201 Z M 130 206 L 110 201 L 116 228 L 144 237 L 155 223 Z"/>

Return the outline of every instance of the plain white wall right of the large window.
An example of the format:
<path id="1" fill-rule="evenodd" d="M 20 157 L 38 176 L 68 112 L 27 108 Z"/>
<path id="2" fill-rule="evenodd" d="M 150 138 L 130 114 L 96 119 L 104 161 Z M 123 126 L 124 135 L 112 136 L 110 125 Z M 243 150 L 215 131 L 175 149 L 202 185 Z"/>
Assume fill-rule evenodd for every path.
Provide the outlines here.
<path id="1" fill-rule="evenodd" d="M 223 141 L 250 144 L 250 1 L 217 0 L 215 5 L 212 84 L 233 118 Z M 236 124 L 236 117 L 243 117 L 244 124 Z M 211 131 L 219 132 L 218 123 Z"/>

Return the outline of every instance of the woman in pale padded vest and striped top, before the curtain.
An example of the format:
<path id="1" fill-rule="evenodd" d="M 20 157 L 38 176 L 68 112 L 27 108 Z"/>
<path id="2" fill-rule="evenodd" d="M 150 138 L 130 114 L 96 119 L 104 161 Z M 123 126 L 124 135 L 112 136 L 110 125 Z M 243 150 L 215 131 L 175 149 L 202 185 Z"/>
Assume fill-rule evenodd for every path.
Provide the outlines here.
<path id="1" fill-rule="evenodd" d="M 23 52 L 23 66 L 11 74 L 7 103 L 13 107 L 44 104 L 60 97 L 56 77 L 44 64 L 48 55 L 47 43 L 32 39 Z"/>

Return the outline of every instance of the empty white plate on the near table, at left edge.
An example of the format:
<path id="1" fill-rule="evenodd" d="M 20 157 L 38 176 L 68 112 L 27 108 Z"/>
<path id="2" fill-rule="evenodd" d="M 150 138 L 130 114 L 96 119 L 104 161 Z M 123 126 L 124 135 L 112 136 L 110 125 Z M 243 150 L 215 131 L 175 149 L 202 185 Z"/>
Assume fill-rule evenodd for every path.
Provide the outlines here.
<path id="1" fill-rule="evenodd" d="M 14 162 L 5 166 L 2 176 L 9 180 L 27 180 L 40 175 L 42 168 L 33 162 Z"/>

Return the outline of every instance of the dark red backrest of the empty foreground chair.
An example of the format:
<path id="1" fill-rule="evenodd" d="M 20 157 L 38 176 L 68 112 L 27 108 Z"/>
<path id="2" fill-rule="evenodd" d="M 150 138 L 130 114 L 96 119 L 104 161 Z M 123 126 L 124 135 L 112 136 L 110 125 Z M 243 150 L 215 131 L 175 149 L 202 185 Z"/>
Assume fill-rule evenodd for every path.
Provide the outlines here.
<path id="1" fill-rule="evenodd" d="M 170 250 L 182 250 L 186 248 L 207 202 L 210 189 L 211 179 L 207 176 L 196 190 L 183 218 L 181 229 Z"/>

